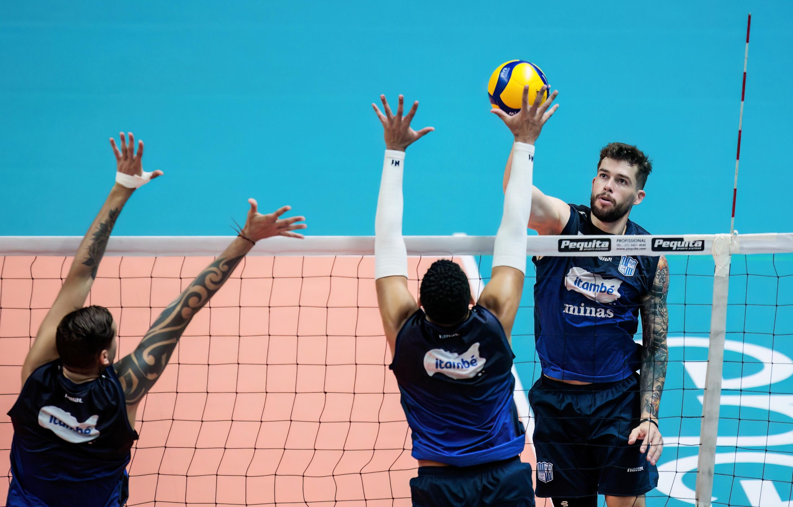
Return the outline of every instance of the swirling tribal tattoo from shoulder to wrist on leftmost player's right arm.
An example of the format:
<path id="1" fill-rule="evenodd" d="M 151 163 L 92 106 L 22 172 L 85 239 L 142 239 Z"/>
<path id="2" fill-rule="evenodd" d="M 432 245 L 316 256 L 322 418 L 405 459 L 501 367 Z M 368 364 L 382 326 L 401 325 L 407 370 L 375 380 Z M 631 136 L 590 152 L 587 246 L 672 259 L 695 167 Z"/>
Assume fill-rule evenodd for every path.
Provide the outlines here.
<path id="1" fill-rule="evenodd" d="M 159 379 L 190 320 L 223 286 L 243 257 L 218 257 L 163 310 L 135 351 L 114 365 L 127 405 L 140 402 Z"/>

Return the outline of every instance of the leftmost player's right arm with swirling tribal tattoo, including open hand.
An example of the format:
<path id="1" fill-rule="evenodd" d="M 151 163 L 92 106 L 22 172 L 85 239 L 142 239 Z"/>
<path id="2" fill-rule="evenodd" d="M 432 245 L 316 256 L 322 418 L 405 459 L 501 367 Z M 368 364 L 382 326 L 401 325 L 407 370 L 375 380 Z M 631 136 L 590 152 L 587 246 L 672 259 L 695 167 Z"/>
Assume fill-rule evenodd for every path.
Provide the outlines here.
<path id="1" fill-rule="evenodd" d="M 235 238 L 223 254 L 196 276 L 193 283 L 163 310 L 140 341 L 140 345 L 113 365 L 121 379 L 121 387 L 124 388 L 130 424 L 135 424 L 135 414 L 141 398 L 163 373 L 170 360 L 170 354 L 174 352 L 187 325 L 228 280 L 239 261 L 251 250 L 254 242 L 275 235 L 303 237 L 302 234 L 291 231 L 305 229 L 305 224 L 296 223 L 305 220 L 304 217 L 279 218 L 289 211 L 289 206 L 284 206 L 269 215 L 261 215 L 256 211 L 256 201 L 251 199 L 248 202 L 251 203 L 251 209 L 240 236 Z"/>

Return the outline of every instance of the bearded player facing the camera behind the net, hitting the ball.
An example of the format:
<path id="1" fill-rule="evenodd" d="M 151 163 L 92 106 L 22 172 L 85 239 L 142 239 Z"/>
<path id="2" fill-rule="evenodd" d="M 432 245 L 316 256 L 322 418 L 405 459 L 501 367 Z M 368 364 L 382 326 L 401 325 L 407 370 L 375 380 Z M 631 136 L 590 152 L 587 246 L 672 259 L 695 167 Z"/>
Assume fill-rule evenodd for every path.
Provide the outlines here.
<path id="1" fill-rule="evenodd" d="M 637 147 L 610 143 L 600 151 L 589 206 L 534 187 L 528 226 L 538 234 L 649 234 L 628 216 L 644 199 L 651 170 Z M 666 258 L 534 257 L 534 264 L 542 375 L 529 401 L 537 496 L 553 497 L 556 507 L 596 507 L 597 494 L 609 507 L 643 507 L 644 494 L 657 486 L 663 449 Z M 640 314 L 643 345 L 634 342 Z"/>

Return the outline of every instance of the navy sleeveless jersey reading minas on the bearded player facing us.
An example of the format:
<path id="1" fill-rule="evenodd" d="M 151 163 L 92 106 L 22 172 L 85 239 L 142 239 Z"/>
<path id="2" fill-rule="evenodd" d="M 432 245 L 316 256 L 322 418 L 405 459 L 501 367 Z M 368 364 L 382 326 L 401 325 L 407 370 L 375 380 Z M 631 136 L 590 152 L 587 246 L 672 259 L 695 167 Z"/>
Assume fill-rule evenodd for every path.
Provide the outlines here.
<path id="1" fill-rule="evenodd" d="M 574 204 L 561 234 L 611 235 L 592 224 L 588 207 Z M 625 234 L 649 232 L 629 220 Z M 535 257 L 534 264 L 534 337 L 542 373 L 616 382 L 635 372 L 641 346 L 634 334 L 658 257 Z"/>

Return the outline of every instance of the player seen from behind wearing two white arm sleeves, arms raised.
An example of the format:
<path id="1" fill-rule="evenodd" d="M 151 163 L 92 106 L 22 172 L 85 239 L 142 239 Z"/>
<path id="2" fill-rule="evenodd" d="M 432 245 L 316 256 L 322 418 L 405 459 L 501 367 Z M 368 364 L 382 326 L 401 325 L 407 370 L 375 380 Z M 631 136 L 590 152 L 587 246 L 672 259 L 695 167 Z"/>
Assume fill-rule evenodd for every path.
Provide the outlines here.
<path id="1" fill-rule="evenodd" d="M 469 309 L 468 279 L 451 261 L 436 261 L 424 275 L 419 301 L 408 290 L 402 238 L 405 149 L 432 128 L 410 127 L 403 97 L 394 115 L 374 107 L 385 129 L 385 162 L 375 219 L 375 278 L 385 337 L 393 354 L 402 406 L 412 430 L 418 477 L 413 505 L 533 506 L 531 465 L 521 463 L 525 440 L 513 399 L 510 334 L 526 273 L 526 222 L 531 211 L 534 141 L 554 114 L 556 93 L 507 122 L 515 157 L 496 235 L 492 279 Z M 423 309 L 422 309 L 423 307 Z"/>

